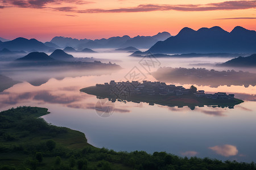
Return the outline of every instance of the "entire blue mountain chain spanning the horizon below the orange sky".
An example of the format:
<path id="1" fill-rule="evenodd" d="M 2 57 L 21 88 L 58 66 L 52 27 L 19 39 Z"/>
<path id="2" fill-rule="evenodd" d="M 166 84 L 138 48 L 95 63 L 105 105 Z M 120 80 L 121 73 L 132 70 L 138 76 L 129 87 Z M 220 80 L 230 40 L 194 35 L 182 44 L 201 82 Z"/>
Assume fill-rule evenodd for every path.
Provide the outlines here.
<path id="1" fill-rule="evenodd" d="M 50 42 L 40 42 L 36 39 L 19 37 L 11 41 L 0 40 L 0 50 L 24 50 L 26 52 L 53 52 L 55 49 L 65 48 L 65 52 L 82 52 L 86 48 L 115 48 L 125 49 L 147 48 L 152 54 L 184 54 L 184 53 L 256 53 L 256 31 L 243 27 L 235 27 L 227 32 L 221 27 L 200 28 L 195 31 L 183 28 L 176 36 L 168 32 L 158 33 L 155 36 L 110 37 L 109 39 L 72 39 L 54 37 Z M 92 52 L 92 51 L 90 51 Z"/>

